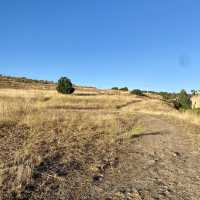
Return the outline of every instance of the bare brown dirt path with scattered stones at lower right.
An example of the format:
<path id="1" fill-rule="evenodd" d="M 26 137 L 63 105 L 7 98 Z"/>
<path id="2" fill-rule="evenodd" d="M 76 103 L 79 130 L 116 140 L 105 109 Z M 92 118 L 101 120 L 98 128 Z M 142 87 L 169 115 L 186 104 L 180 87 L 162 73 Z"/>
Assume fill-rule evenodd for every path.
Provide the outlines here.
<path id="1" fill-rule="evenodd" d="M 106 171 L 96 193 L 107 199 L 200 199 L 200 136 L 172 120 L 138 117 L 144 133 L 119 145 L 119 164 Z"/>

